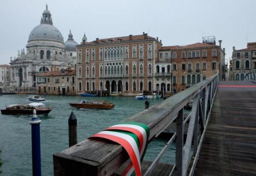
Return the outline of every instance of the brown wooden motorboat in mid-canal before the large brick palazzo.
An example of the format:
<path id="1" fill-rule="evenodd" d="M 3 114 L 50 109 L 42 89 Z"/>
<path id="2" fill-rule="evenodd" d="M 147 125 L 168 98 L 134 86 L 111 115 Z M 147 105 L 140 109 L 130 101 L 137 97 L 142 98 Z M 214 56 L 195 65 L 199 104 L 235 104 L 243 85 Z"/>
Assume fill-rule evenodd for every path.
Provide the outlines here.
<path id="1" fill-rule="evenodd" d="M 109 101 L 87 101 L 82 100 L 79 103 L 69 103 L 74 108 L 85 108 L 85 109 L 112 109 L 115 107 L 114 103 Z"/>

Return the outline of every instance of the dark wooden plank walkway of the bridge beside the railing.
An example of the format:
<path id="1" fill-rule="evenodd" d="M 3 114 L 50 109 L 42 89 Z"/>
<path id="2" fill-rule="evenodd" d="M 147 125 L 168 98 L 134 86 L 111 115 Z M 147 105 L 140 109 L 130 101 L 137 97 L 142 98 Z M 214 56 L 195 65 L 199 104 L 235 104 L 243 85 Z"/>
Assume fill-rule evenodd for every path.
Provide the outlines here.
<path id="1" fill-rule="evenodd" d="M 195 175 L 256 175 L 256 83 L 224 85 L 240 87 L 218 87 Z"/>

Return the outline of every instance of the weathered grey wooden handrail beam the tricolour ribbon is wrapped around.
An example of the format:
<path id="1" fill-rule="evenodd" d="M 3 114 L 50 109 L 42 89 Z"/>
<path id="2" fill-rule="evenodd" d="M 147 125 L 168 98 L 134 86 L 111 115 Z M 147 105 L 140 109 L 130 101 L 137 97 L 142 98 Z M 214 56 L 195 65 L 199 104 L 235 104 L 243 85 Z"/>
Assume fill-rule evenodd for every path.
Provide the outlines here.
<path id="1" fill-rule="evenodd" d="M 160 133 L 162 133 L 163 130 L 172 123 L 176 118 L 177 113 L 192 98 L 194 98 L 195 95 L 198 95 L 198 93 L 204 89 L 213 78 L 215 78 L 215 76 L 212 76 L 211 78 L 206 79 L 189 89 L 180 92 L 179 94 L 167 98 L 160 104 L 154 105 L 141 113 L 133 115 L 125 121 L 141 122 L 148 125 L 150 130 L 149 140 L 151 141 L 160 135 Z M 70 159 L 70 157 L 72 159 Z M 109 176 L 127 159 L 127 153 L 119 144 L 102 139 L 87 139 L 62 151 L 61 153 L 53 154 L 54 174 L 55 176 L 65 176 L 68 175 L 65 173 L 70 172 L 74 175 L 79 175 L 81 172 L 71 166 L 74 165 L 74 162 L 82 162 L 87 168 L 89 168 L 90 164 L 94 164 L 93 173 L 90 173 L 90 175 Z M 63 166 L 66 167 L 64 168 Z M 97 172 L 94 169 L 96 169 Z M 66 172 L 63 170 L 66 170 Z"/>

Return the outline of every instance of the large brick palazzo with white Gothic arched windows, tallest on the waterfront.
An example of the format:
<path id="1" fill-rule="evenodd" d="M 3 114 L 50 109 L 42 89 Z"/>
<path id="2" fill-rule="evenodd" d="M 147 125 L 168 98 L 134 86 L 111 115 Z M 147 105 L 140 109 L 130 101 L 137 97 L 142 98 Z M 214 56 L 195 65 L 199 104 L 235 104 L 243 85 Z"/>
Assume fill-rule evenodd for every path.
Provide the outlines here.
<path id="1" fill-rule="evenodd" d="M 143 35 L 96 38 L 92 42 L 87 42 L 84 35 L 81 45 L 77 46 L 77 93 L 107 89 L 111 93 L 133 95 L 142 89 L 156 89 L 154 68 L 161 46 L 158 38 L 144 32 Z"/>

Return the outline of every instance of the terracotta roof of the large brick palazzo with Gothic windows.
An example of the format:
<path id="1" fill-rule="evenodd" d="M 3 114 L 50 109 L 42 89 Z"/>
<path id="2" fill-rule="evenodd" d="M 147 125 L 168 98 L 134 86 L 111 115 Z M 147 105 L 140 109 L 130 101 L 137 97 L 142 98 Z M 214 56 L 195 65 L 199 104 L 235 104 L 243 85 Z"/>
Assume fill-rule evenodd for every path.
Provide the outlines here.
<path id="1" fill-rule="evenodd" d="M 131 36 L 132 40 L 146 40 L 146 39 L 154 39 L 150 36 L 148 36 L 147 34 L 145 35 L 132 35 Z M 95 43 L 110 43 L 110 42 L 118 42 L 118 40 L 120 41 L 129 41 L 130 40 L 130 36 L 124 36 L 124 37 L 114 37 L 114 38 L 104 38 L 104 39 L 99 39 L 99 40 L 94 40 L 91 42 L 87 42 L 86 45 L 90 45 L 90 44 L 95 44 Z"/>

